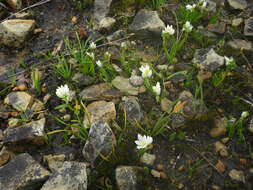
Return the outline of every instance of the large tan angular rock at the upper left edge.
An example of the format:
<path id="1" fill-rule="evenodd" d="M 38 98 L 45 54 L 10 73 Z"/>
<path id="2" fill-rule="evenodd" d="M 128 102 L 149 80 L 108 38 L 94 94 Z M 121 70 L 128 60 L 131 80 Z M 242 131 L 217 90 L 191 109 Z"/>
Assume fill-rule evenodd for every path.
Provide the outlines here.
<path id="1" fill-rule="evenodd" d="M 34 28 L 34 20 L 6 20 L 0 24 L 0 45 L 21 47 Z"/>

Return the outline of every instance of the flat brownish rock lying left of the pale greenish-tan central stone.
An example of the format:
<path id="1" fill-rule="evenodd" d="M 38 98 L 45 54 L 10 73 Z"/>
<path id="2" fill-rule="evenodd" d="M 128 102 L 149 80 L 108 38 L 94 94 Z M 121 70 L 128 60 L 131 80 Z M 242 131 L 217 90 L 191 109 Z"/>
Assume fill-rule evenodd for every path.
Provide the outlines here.
<path id="1" fill-rule="evenodd" d="M 108 83 L 100 83 L 86 87 L 79 96 L 83 100 L 111 100 L 118 98 L 122 93 Z"/>

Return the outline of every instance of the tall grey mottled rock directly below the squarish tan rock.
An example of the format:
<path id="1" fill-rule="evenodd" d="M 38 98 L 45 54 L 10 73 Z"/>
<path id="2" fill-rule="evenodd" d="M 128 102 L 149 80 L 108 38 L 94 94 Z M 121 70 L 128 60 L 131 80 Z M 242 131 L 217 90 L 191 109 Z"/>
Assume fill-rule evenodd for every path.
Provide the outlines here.
<path id="1" fill-rule="evenodd" d="M 90 128 L 88 139 L 83 148 L 83 156 L 94 166 L 97 157 L 107 157 L 115 145 L 116 138 L 109 125 L 103 121 L 97 121 Z"/>

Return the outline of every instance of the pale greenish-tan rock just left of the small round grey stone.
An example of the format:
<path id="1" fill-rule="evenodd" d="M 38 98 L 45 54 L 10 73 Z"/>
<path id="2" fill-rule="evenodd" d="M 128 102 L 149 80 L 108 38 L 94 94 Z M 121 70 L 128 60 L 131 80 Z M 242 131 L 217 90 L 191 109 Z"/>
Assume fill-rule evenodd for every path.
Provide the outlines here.
<path id="1" fill-rule="evenodd" d="M 129 79 L 117 76 L 115 79 L 112 80 L 112 85 L 120 90 L 122 93 L 127 95 L 138 95 L 139 88 L 134 87 L 130 84 Z"/>

